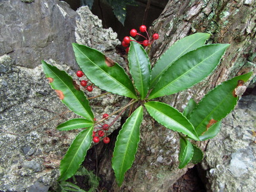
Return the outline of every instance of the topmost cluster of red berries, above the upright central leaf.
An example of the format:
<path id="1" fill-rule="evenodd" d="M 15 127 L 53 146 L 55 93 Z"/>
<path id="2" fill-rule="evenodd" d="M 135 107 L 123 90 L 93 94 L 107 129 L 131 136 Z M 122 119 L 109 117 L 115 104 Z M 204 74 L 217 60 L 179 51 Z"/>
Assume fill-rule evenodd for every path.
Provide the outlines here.
<path id="1" fill-rule="evenodd" d="M 130 45 L 130 42 L 131 42 L 131 41 L 135 41 L 135 42 L 137 42 L 137 43 L 140 43 L 140 44 L 142 44 L 143 46 L 148 46 L 148 45 L 151 45 L 151 44 L 154 42 L 154 40 L 157 40 L 157 39 L 159 38 L 158 33 L 154 33 L 154 34 L 152 35 L 152 38 L 150 38 L 150 37 L 149 37 L 149 34 L 148 34 L 147 30 L 146 30 L 146 26 L 144 26 L 144 25 L 142 25 L 141 27 L 139 27 L 139 30 L 140 30 L 140 32 L 142 32 L 142 33 L 146 32 L 146 37 L 143 36 L 143 35 L 140 34 L 140 33 L 137 33 L 137 30 L 136 30 L 136 29 L 130 30 L 130 36 L 132 36 L 132 37 L 136 37 L 137 35 L 142 36 L 143 38 L 145 38 L 145 40 L 143 40 L 143 42 L 138 42 L 138 41 L 136 41 L 136 40 L 132 40 L 132 39 L 130 39 L 130 37 L 128 37 L 128 36 L 124 37 L 124 39 L 123 39 L 123 41 L 122 41 L 122 45 L 123 45 L 124 48 L 126 48 L 126 52 L 127 52 L 127 53 L 129 52 L 129 45 Z"/>

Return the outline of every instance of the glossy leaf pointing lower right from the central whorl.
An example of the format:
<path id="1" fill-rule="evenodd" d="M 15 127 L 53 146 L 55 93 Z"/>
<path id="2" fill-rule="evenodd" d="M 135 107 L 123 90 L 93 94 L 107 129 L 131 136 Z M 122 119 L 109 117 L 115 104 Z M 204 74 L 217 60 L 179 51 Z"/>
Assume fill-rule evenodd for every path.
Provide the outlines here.
<path id="1" fill-rule="evenodd" d="M 171 130 L 188 135 L 193 140 L 199 141 L 193 125 L 182 115 L 182 113 L 177 111 L 177 109 L 161 102 L 148 102 L 144 105 L 151 117 L 157 120 L 160 124 Z"/>

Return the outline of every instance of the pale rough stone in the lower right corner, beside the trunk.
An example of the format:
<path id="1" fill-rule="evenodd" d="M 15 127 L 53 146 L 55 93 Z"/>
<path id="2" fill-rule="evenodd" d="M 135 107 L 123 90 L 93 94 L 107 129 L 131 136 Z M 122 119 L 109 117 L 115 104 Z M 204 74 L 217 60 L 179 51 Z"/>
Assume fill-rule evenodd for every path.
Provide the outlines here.
<path id="1" fill-rule="evenodd" d="M 255 99 L 254 95 L 242 97 L 223 119 L 220 133 L 209 141 L 201 163 L 207 171 L 209 191 L 255 191 Z"/>

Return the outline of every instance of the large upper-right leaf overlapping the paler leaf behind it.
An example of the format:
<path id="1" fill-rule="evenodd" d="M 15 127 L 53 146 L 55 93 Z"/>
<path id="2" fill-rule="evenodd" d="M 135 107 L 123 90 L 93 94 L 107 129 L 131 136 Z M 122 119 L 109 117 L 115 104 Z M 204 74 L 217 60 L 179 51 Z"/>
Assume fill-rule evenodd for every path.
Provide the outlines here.
<path id="1" fill-rule="evenodd" d="M 229 44 L 205 45 L 177 59 L 162 75 L 149 99 L 188 89 L 209 75 Z"/>

